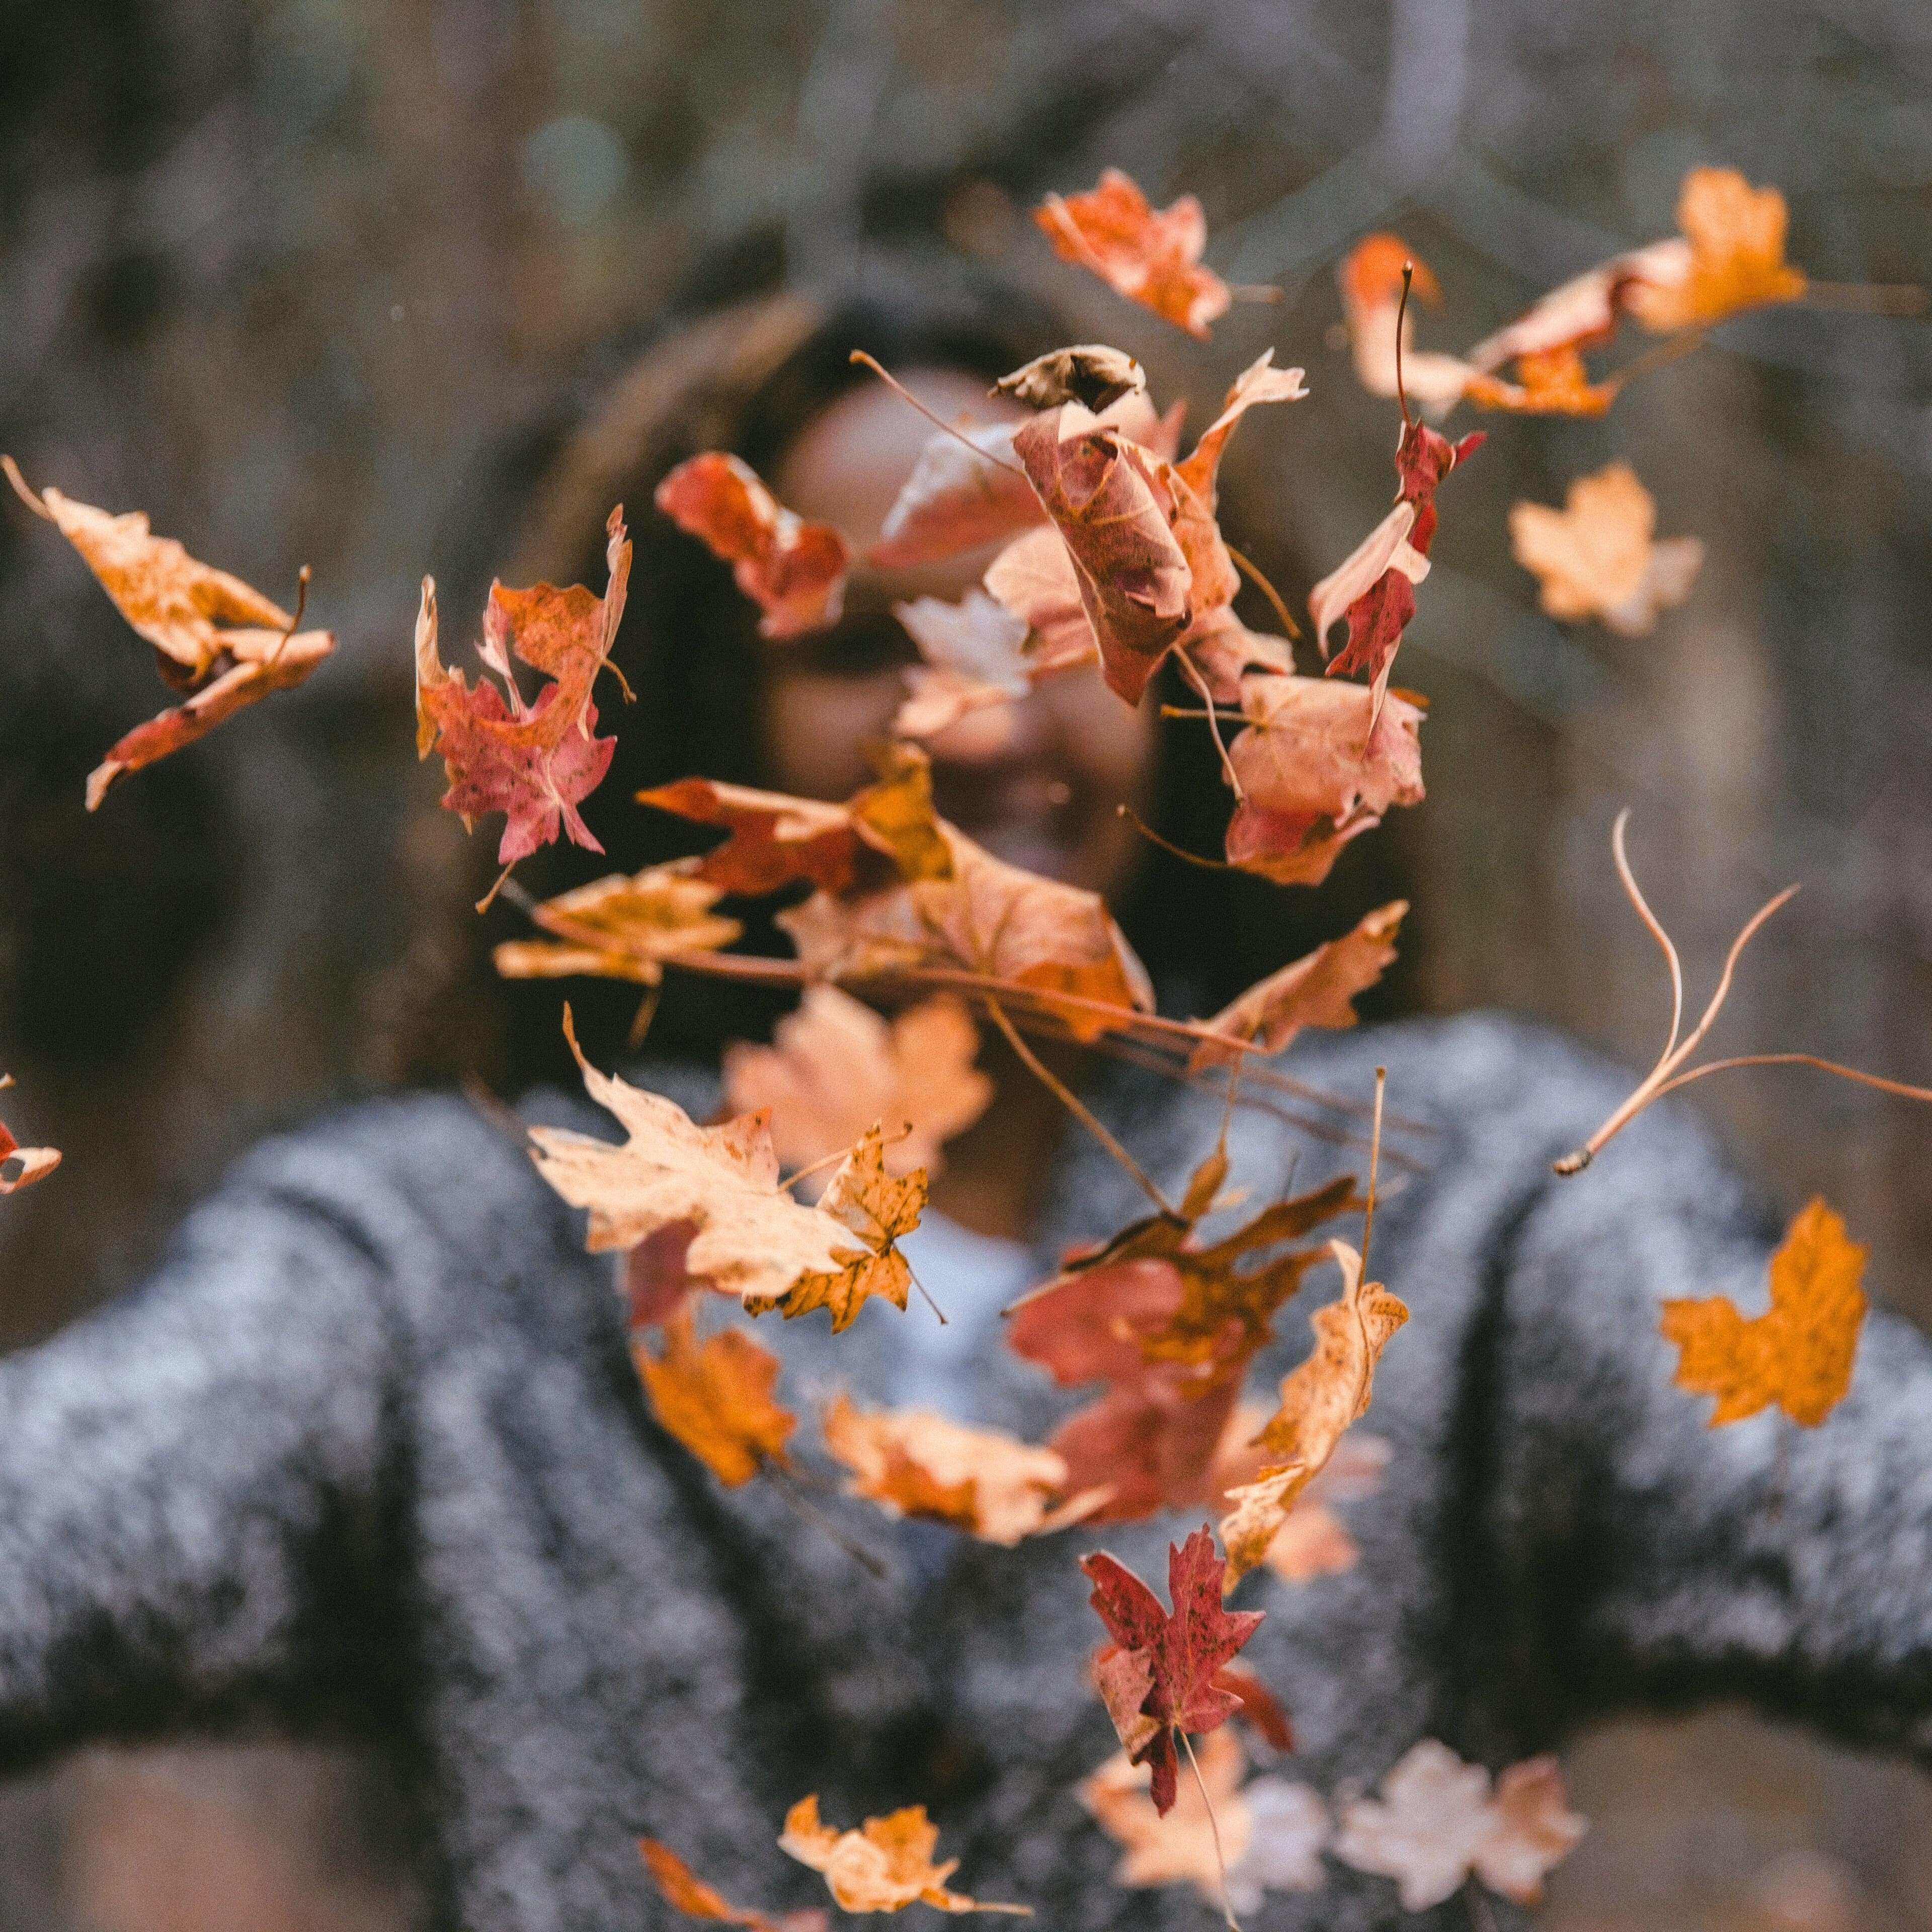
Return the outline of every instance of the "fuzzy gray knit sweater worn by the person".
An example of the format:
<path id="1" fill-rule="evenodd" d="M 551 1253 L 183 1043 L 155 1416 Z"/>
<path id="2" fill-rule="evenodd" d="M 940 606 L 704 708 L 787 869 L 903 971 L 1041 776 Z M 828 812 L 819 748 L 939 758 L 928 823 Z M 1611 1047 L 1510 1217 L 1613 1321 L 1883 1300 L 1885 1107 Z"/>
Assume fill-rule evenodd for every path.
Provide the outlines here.
<path id="1" fill-rule="evenodd" d="M 1395 1453 L 1350 1507 L 1360 1561 L 1238 1598 L 1267 1611 L 1244 1662 L 1294 1714 L 1285 1776 L 1374 1783 L 1424 1735 L 1499 1766 L 1592 1714 L 1716 1696 L 1932 1760 L 1926 1343 L 1878 1314 L 1824 1428 L 1708 1432 L 1658 1298 L 1764 1306 L 1776 1231 L 1692 1121 L 1660 1109 L 1555 1180 L 1621 1074 L 1480 1016 L 1296 1049 L 1331 1092 L 1366 1095 L 1376 1061 L 1439 1134 L 1376 1225 L 1412 1320 L 1376 1383 Z M 1140 1078 L 1099 1101 L 1175 1182 L 1217 1126 Z M 1240 1119 L 1252 1196 L 1296 1153 L 1296 1188 L 1360 1165 Z M 1072 1136 L 1051 1204 L 1043 1271 L 1140 1211 Z M 469 1932 L 672 1922 L 639 1832 L 740 1903 L 823 1901 L 773 1843 L 806 1791 L 838 1824 L 927 1804 L 956 1882 L 1053 1932 L 1208 1924 L 1184 1888 L 1121 1889 L 1072 1797 L 1113 1748 L 1076 1557 L 1105 1544 L 1161 1584 L 1198 1517 L 935 1561 L 825 1499 L 873 1577 L 651 1424 L 580 1219 L 469 1105 L 371 1105 L 261 1148 L 141 1291 L 0 1364 L 0 1758 L 251 1721 L 371 1737 L 419 1797 L 435 1924 Z M 1258 1381 L 1329 1293 L 1287 1310 Z M 883 1393 L 898 1320 L 788 1323 L 786 1387 Z M 1009 1354 L 985 1376 L 989 1418 L 1032 1439 L 1082 1399 Z M 1323 1893 L 1271 1891 L 1250 1924 L 1399 1917 L 1389 1880 L 1329 1861 Z"/>

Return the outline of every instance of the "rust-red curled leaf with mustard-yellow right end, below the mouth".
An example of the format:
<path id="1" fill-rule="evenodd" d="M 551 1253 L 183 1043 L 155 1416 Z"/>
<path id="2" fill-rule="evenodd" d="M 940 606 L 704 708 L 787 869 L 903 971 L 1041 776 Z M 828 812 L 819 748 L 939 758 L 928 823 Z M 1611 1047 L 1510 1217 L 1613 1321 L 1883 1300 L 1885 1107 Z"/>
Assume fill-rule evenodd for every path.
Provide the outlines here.
<path id="1" fill-rule="evenodd" d="M 696 875 L 724 893 L 755 896 L 794 879 L 842 893 L 881 877 L 947 879 L 952 856 L 933 817 L 931 763 L 918 746 L 877 755 L 879 782 L 844 804 L 759 792 L 750 784 L 678 779 L 639 792 L 638 802 L 732 837 L 707 852 Z"/>

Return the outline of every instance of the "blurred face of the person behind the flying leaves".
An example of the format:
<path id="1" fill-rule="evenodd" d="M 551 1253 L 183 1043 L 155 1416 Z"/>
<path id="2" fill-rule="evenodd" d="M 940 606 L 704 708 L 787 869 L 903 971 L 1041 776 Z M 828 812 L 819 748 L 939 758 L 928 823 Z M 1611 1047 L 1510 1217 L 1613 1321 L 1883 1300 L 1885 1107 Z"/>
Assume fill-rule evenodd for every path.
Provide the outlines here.
<path id="1" fill-rule="evenodd" d="M 1005 412 L 978 377 L 895 371 L 943 419 Z M 806 518 L 837 524 L 864 553 L 910 473 L 931 425 L 883 384 L 821 410 L 792 440 L 769 483 Z M 995 547 L 997 549 L 997 547 Z M 873 771 L 866 746 L 891 736 L 918 663 L 893 605 L 958 599 L 991 560 L 976 551 L 943 566 L 879 572 L 860 562 L 844 618 L 831 630 L 765 645 L 763 736 L 773 784 L 808 798 L 844 798 Z M 943 817 L 999 858 L 1097 893 L 1117 893 L 1138 858 L 1138 835 L 1115 811 L 1146 815 L 1153 777 L 1153 711 L 1128 709 L 1099 670 L 1049 678 L 1037 692 L 976 711 L 925 740 Z"/>

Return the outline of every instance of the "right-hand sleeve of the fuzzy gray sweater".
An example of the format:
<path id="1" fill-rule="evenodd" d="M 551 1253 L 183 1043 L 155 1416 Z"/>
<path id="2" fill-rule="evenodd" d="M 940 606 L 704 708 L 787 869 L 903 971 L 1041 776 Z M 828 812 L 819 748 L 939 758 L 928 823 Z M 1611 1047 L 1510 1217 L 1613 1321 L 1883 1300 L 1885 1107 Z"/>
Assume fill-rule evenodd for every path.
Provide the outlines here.
<path id="1" fill-rule="evenodd" d="M 1455 1563 L 1464 1665 L 1507 1683 L 1517 1747 L 1737 1696 L 1932 1762 L 1932 1347 L 1870 1314 L 1820 1428 L 1714 1430 L 1673 1383 L 1660 1304 L 1762 1314 L 1774 1242 L 1671 1109 L 1505 1231 L 1464 1362 Z"/>

